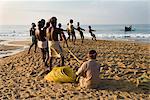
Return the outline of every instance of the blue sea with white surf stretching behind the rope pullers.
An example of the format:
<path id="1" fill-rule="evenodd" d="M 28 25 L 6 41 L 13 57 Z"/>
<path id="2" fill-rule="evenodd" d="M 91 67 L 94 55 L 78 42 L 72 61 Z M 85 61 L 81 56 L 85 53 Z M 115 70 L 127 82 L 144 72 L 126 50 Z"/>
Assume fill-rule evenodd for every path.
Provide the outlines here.
<path id="1" fill-rule="evenodd" d="M 0 40 L 26 40 L 30 37 L 30 25 L 0 25 Z M 76 25 L 75 25 L 76 27 Z M 90 39 L 88 32 L 88 25 L 81 25 L 85 29 L 85 38 Z M 125 40 L 125 41 L 139 41 L 150 43 L 150 24 L 132 25 L 134 31 L 125 32 L 125 25 L 91 25 L 93 32 L 97 39 L 101 40 Z M 66 26 L 63 26 L 66 29 Z M 67 37 L 67 33 L 66 37 Z M 77 38 L 80 38 L 76 31 Z"/>

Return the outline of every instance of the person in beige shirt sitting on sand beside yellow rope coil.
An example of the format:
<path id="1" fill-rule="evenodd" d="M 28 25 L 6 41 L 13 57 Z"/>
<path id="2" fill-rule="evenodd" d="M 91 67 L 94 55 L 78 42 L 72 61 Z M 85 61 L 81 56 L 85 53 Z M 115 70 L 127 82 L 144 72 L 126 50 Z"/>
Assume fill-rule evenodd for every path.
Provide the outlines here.
<path id="1" fill-rule="evenodd" d="M 100 80 L 100 66 L 96 62 L 97 53 L 95 50 L 90 50 L 88 53 L 88 61 L 84 62 L 76 72 L 79 78 L 81 88 L 98 88 Z"/>

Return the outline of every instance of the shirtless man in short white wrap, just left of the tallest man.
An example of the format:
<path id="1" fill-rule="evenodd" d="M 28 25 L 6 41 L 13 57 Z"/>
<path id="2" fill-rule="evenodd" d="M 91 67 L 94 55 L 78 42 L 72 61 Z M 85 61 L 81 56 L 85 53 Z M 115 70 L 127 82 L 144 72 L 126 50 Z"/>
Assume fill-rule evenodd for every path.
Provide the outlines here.
<path id="1" fill-rule="evenodd" d="M 41 21 L 38 22 L 38 28 L 36 30 L 36 38 L 38 40 L 38 47 L 41 49 L 42 52 L 42 60 L 45 64 L 45 66 L 47 66 L 47 61 L 48 61 L 48 44 L 47 44 L 47 40 L 45 37 L 44 32 L 44 25 L 45 25 L 45 20 L 42 19 Z"/>

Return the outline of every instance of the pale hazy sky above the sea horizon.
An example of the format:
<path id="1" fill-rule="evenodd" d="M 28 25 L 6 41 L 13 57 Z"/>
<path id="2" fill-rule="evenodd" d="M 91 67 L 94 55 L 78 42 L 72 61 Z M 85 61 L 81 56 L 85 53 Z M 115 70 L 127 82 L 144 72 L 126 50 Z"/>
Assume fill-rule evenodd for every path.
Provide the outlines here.
<path id="1" fill-rule="evenodd" d="M 150 24 L 150 0 L 0 0 L 0 25 L 30 25 L 56 16 L 67 24 Z"/>

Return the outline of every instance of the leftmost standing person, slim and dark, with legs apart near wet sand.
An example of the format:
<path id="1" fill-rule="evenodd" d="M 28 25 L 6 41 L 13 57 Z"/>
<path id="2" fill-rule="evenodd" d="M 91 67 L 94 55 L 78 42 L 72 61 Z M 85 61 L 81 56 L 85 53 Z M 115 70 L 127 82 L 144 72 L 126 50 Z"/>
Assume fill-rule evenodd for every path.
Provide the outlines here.
<path id="1" fill-rule="evenodd" d="M 36 52 L 36 48 L 37 48 L 37 39 L 36 39 L 36 36 L 35 36 L 35 30 L 36 30 L 35 27 L 36 27 L 36 25 L 35 25 L 35 23 L 32 23 L 31 25 L 32 25 L 32 27 L 30 29 L 30 36 L 32 37 L 32 44 L 31 44 L 31 46 L 30 46 L 30 48 L 28 50 L 28 54 L 30 53 L 30 50 L 33 47 L 33 45 L 35 45 L 34 52 Z"/>

